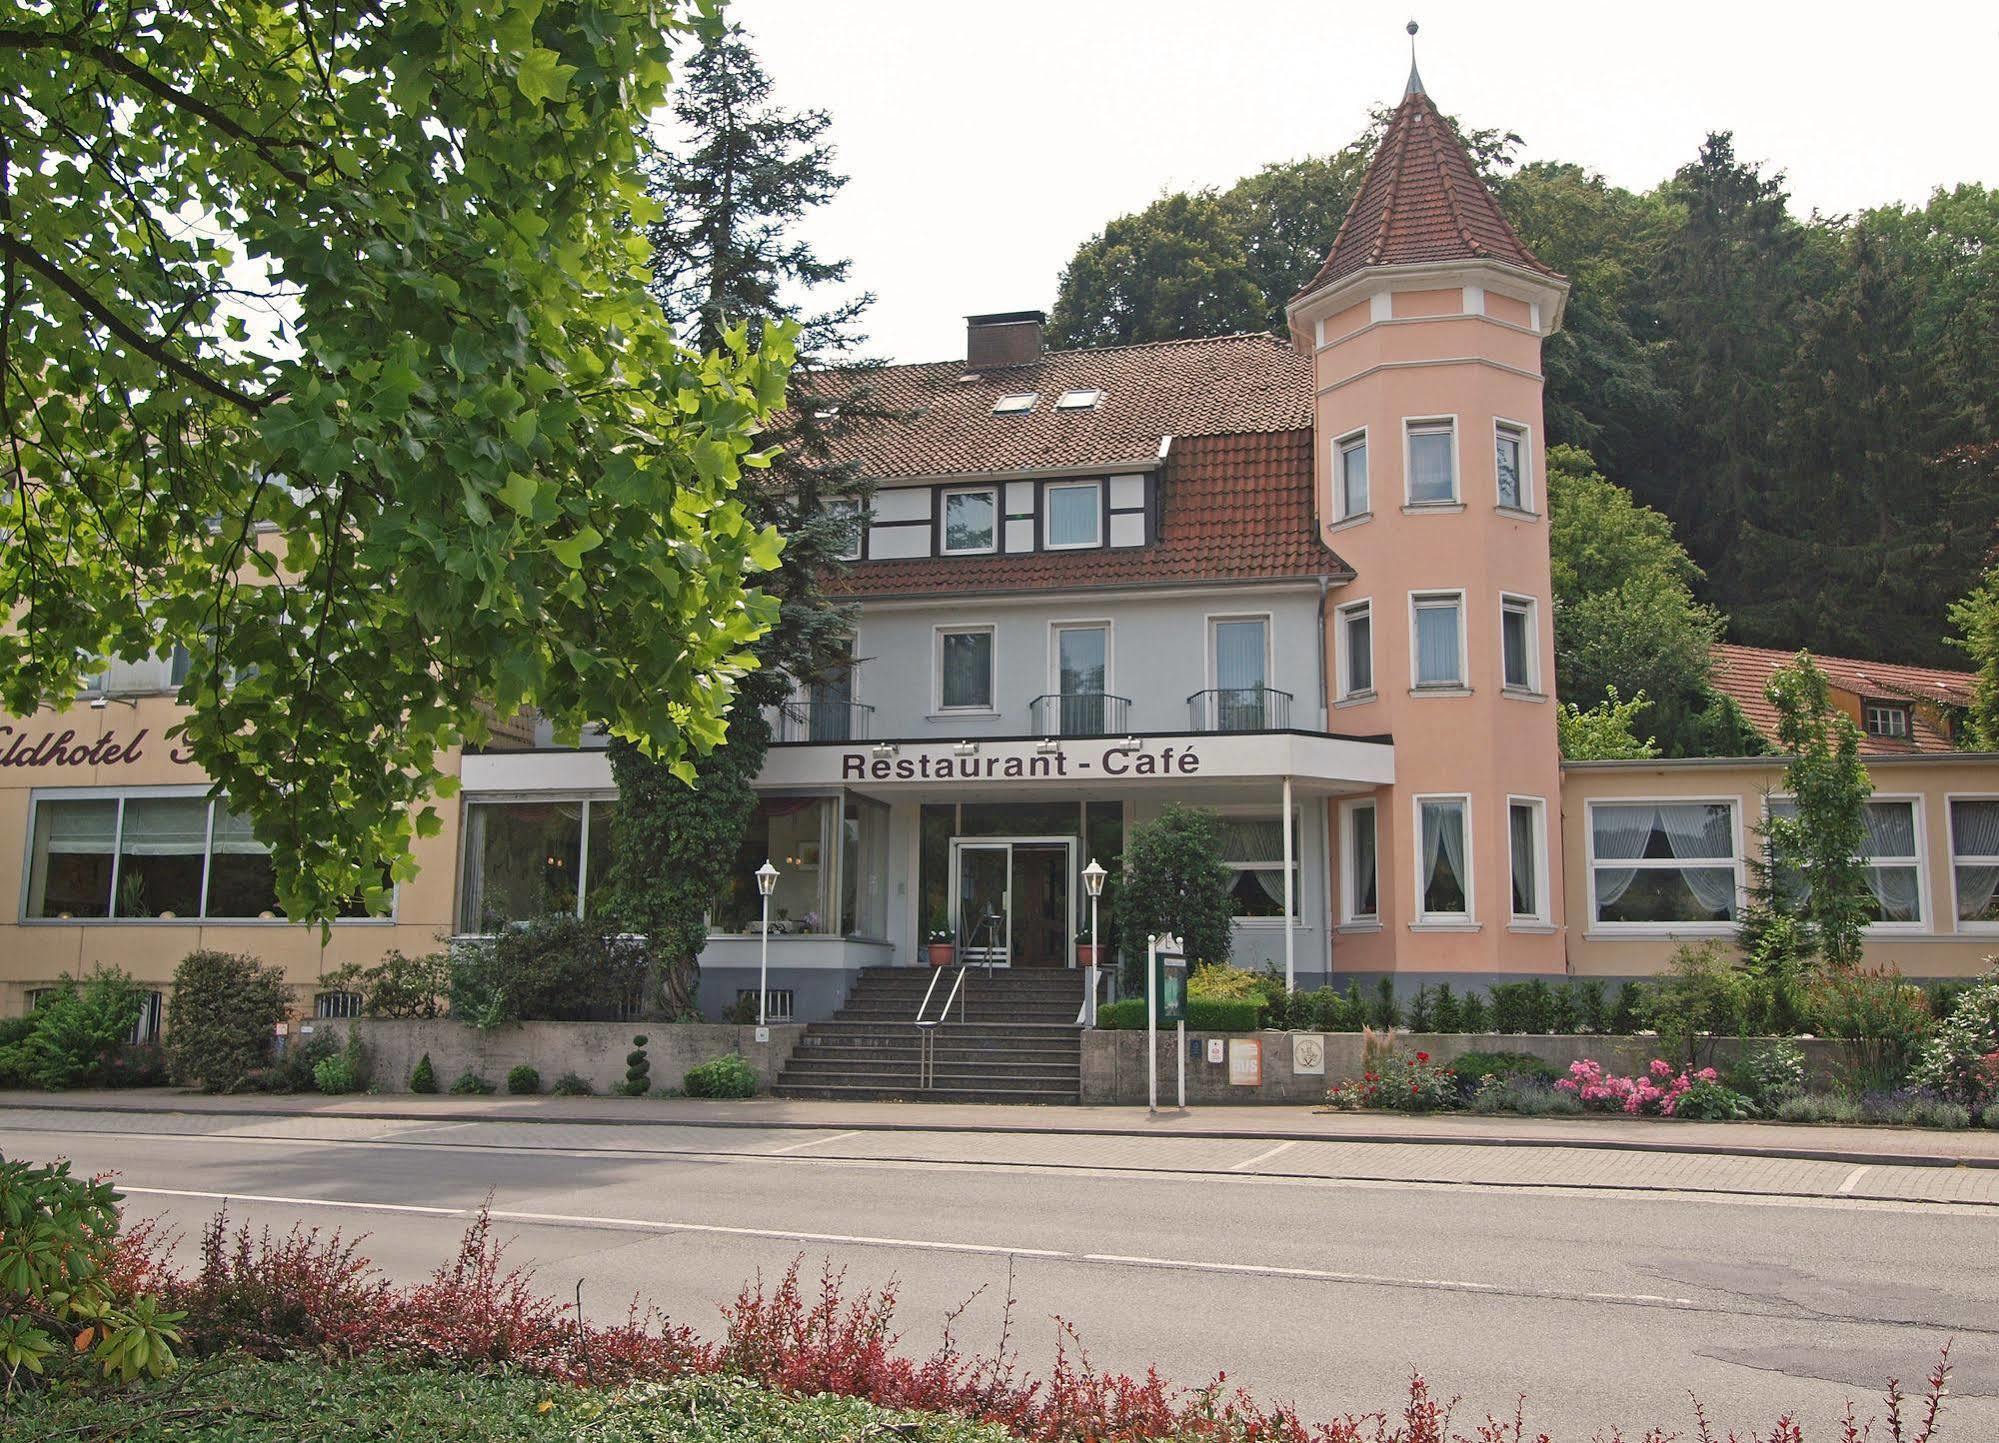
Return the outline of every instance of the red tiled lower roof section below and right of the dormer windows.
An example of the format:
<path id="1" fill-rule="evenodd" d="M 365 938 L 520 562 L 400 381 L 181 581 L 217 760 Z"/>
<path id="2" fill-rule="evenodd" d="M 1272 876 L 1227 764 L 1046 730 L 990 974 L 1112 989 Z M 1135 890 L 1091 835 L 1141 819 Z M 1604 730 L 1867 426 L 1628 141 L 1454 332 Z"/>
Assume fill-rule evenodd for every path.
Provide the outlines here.
<path id="1" fill-rule="evenodd" d="M 1313 524 L 1309 428 L 1179 438 L 1159 496 L 1151 546 L 856 562 L 828 590 L 884 598 L 1353 574 Z"/>

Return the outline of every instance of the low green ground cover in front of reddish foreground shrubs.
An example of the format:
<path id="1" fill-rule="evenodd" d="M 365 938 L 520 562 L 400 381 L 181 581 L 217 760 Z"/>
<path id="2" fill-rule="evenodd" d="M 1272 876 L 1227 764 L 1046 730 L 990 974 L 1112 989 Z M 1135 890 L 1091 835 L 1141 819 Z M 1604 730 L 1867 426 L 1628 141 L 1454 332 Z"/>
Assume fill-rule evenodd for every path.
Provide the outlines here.
<path id="1" fill-rule="evenodd" d="M 1005 1429 L 956 1417 L 852 1397 L 792 1397 L 740 1377 L 590 1391 L 522 1373 L 262 1363 L 242 1355 L 130 1391 L 28 1393 L 14 1403 L 8 1435 L 120 1443 L 1013 1441 Z"/>

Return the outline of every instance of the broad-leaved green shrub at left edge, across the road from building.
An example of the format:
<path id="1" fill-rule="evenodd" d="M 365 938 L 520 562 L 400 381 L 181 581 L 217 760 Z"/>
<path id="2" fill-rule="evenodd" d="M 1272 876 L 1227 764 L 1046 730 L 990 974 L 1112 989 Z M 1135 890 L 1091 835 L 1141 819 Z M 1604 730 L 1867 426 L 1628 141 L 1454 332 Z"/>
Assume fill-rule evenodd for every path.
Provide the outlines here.
<path id="1" fill-rule="evenodd" d="M 118 1193 L 68 1163 L 0 1159 L 0 1365 L 8 1403 L 90 1375 L 130 1383 L 174 1367 L 180 1313 L 114 1283 Z M 10 1433 L 12 1437 L 12 1433 Z"/>

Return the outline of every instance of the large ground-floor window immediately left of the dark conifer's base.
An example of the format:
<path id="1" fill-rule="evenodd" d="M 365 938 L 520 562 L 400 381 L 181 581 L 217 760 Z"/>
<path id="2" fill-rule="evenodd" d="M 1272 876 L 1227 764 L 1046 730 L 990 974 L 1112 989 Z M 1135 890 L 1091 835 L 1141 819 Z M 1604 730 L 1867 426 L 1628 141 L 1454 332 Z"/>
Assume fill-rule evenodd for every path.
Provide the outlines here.
<path id="1" fill-rule="evenodd" d="M 600 909 L 616 823 L 618 803 L 608 797 L 468 801 L 460 931 Z"/>

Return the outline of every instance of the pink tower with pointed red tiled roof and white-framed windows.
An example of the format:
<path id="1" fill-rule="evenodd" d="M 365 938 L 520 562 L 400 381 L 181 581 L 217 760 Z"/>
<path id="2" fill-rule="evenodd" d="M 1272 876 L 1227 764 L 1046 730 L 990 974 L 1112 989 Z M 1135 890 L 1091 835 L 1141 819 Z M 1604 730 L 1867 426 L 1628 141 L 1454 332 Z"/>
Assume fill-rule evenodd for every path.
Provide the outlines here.
<path id="1" fill-rule="evenodd" d="M 1319 274 L 1329 723 L 1395 741 L 1331 803 L 1339 973 L 1563 971 L 1541 340 L 1567 282 L 1513 234 L 1411 72 Z"/>

